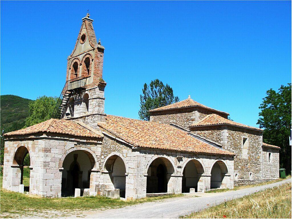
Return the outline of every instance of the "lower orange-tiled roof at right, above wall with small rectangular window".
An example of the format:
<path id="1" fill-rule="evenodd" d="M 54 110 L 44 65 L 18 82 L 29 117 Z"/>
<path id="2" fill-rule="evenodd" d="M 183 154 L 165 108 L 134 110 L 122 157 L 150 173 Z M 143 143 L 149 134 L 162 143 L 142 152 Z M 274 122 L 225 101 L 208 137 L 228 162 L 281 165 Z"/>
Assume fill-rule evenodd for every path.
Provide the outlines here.
<path id="1" fill-rule="evenodd" d="M 250 128 L 250 129 L 254 129 L 254 130 L 258 130 L 258 131 L 263 131 L 260 128 L 246 126 L 244 124 L 231 121 L 230 119 L 225 119 L 217 114 L 210 114 L 210 115 L 204 117 L 203 119 L 201 119 L 200 121 L 198 121 L 197 123 L 190 125 L 190 127 L 221 125 L 221 124 L 229 124 L 229 125 L 233 125 L 233 126 L 239 126 L 239 127 Z"/>

